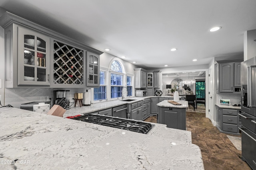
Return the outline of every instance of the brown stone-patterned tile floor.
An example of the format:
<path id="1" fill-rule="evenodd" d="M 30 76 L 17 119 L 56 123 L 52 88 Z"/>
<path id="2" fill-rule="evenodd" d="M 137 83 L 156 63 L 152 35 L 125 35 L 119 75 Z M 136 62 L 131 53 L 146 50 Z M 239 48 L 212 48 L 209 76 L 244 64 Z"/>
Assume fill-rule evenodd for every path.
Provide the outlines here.
<path id="1" fill-rule="evenodd" d="M 156 123 L 156 116 L 145 121 Z M 242 151 L 234 147 L 227 134 L 212 125 L 205 113 L 187 111 L 186 126 L 191 131 L 192 143 L 201 149 L 205 170 L 250 170 L 241 160 Z"/>

